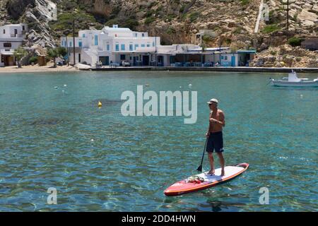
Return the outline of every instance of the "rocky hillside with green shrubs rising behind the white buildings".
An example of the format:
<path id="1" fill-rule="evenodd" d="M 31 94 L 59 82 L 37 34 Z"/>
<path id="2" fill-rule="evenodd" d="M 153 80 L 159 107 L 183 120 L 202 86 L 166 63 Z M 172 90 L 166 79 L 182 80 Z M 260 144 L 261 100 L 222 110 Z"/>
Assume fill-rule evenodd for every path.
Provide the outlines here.
<path id="1" fill-rule="evenodd" d="M 316 0 L 290 0 L 289 31 L 285 0 L 264 0 L 269 20 L 254 33 L 261 0 L 1 0 L 0 23 L 26 22 L 31 30 L 28 45 L 53 46 L 70 34 L 75 19 L 80 29 L 118 24 L 160 35 L 162 44 L 196 43 L 204 32 L 206 46 L 231 49 L 256 48 L 262 53 L 279 48 L 291 37 L 315 36 L 318 32 Z M 57 20 L 52 18 L 57 4 Z M 279 52 L 279 51 L 276 51 Z M 317 53 L 316 53 L 317 54 Z M 264 59 L 264 61 L 266 61 Z M 264 63 L 266 64 L 266 63 Z"/>

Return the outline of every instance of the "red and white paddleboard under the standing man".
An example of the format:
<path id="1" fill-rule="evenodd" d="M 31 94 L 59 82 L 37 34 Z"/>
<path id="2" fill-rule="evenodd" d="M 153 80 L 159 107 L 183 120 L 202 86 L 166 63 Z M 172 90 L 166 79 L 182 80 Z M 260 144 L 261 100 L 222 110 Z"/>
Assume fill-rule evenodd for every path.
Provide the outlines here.
<path id="1" fill-rule="evenodd" d="M 178 196 L 182 194 L 191 193 L 194 191 L 200 191 L 204 189 L 211 188 L 211 186 L 216 186 L 224 182 L 228 182 L 231 179 L 239 176 L 249 167 L 248 163 L 240 163 L 235 166 L 225 167 L 225 175 L 220 177 L 221 168 L 216 169 L 214 175 L 208 174 L 208 172 L 203 172 L 201 174 L 196 174 L 194 177 L 189 177 L 180 182 L 172 184 L 170 187 L 165 189 L 166 196 Z"/>

